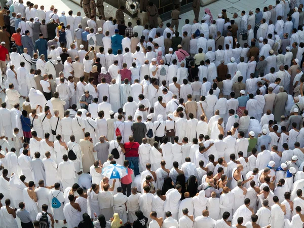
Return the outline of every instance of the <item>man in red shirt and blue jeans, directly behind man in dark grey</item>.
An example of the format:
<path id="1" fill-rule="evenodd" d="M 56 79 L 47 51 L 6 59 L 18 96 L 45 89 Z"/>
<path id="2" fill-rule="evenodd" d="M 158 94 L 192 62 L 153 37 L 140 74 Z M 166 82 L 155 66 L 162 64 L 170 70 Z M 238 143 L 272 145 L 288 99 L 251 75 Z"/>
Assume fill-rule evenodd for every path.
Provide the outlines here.
<path id="1" fill-rule="evenodd" d="M 134 137 L 133 135 L 129 136 L 129 142 L 126 142 L 124 144 L 125 150 L 126 150 L 126 160 L 129 161 L 129 168 L 131 166 L 131 162 L 133 163 L 134 166 L 134 175 L 139 174 L 139 167 L 138 167 L 138 147 L 139 143 L 134 142 Z"/>

